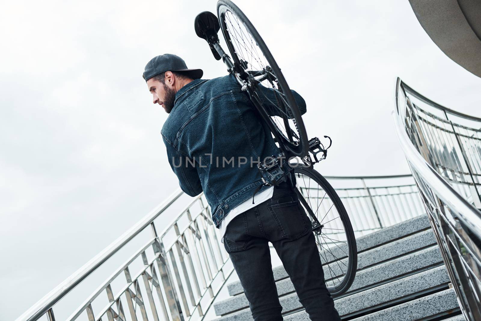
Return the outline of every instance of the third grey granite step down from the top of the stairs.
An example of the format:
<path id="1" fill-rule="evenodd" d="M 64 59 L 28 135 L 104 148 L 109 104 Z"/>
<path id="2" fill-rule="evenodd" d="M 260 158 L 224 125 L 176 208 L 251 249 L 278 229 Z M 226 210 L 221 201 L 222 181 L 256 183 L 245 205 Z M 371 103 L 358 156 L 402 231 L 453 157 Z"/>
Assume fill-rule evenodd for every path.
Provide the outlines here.
<path id="1" fill-rule="evenodd" d="M 441 264 L 442 258 L 438 247 L 431 246 L 418 252 L 411 253 L 409 255 L 402 256 L 397 259 L 393 259 L 359 271 L 356 274 L 353 285 L 349 289 L 348 293 L 344 296 L 348 297 L 350 293 L 367 290 L 373 286 L 386 283 L 389 284 L 388 282 L 395 281 L 396 279 L 403 278 L 404 276 L 408 276 L 413 273 L 429 270 L 430 268 L 440 266 Z M 285 311 L 302 308 L 289 278 L 278 282 L 276 285 L 279 296 L 293 293 L 290 296 L 280 297 L 281 305 L 284 307 L 284 309 L 287 309 Z M 248 307 L 249 302 L 243 293 L 237 296 L 232 296 L 214 305 L 216 315 L 225 315 L 233 311 L 246 309 Z M 247 312 L 250 316 L 249 309 Z M 235 319 L 235 315 L 232 315 L 232 317 L 234 319 L 222 320 L 240 320 Z"/>

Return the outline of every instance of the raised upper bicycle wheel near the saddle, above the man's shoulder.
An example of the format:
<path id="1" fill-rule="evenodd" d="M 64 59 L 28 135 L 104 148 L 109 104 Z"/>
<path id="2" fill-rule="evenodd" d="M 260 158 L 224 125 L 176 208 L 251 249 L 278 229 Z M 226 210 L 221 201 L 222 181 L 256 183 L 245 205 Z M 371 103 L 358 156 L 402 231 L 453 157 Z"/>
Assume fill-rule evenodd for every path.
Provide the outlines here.
<path id="1" fill-rule="evenodd" d="M 217 16 L 236 67 L 235 76 L 246 85 L 253 104 L 267 120 L 271 131 L 276 132 L 279 144 L 295 156 L 304 157 L 308 140 L 301 113 L 264 40 L 231 1 L 217 2 Z M 260 86 L 271 91 L 261 90 Z M 269 105 L 268 110 L 265 104 Z"/>

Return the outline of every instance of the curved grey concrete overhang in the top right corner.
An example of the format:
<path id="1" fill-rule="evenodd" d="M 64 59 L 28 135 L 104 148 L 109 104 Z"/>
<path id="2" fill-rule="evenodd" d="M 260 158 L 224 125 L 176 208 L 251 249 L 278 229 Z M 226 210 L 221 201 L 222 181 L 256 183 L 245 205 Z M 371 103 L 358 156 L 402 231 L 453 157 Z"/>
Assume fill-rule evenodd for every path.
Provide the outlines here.
<path id="1" fill-rule="evenodd" d="M 457 64 L 481 77 L 481 1 L 409 2 L 432 41 Z"/>

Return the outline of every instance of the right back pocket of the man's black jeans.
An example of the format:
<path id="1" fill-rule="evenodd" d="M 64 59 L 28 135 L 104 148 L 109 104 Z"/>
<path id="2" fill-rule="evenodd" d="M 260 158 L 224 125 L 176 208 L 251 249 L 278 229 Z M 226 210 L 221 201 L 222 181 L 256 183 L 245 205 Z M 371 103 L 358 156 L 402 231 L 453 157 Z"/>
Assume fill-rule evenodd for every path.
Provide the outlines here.
<path id="1" fill-rule="evenodd" d="M 289 198 L 283 199 L 288 200 Z M 301 210 L 299 200 L 278 203 L 267 208 L 276 221 L 282 236 L 298 239 L 308 232 L 308 218 L 304 210 Z"/>

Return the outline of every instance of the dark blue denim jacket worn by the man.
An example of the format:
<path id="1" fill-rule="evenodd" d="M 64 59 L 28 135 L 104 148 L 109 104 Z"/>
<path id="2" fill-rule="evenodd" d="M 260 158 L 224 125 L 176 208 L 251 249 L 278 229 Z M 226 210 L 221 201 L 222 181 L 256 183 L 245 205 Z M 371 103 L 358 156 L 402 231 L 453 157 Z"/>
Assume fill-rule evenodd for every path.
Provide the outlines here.
<path id="1" fill-rule="evenodd" d="M 276 101 L 272 89 L 263 90 Z M 304 113 L 304 99 L 292 93 Z M 269 102 L 263 104 L 269 110 Z M 279 154 L 271 132 L 232 74 L 196 79 L 180 88 L 162 137 L 180 187 L 190 196 L 204 192 L 217 228 L 229 210 L 262 184 L 257 161 Z"/>

